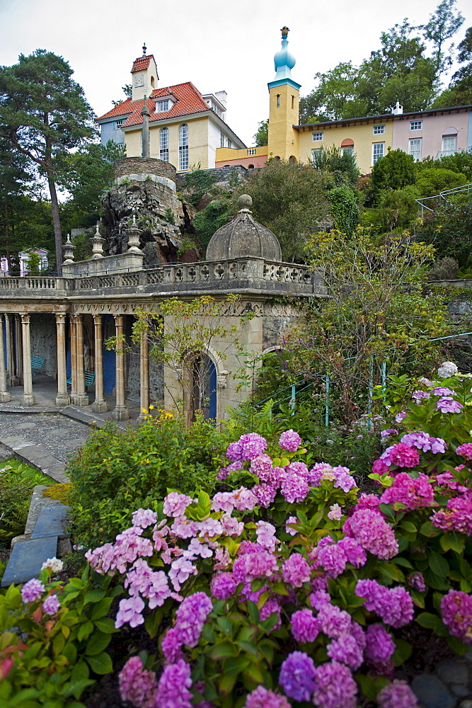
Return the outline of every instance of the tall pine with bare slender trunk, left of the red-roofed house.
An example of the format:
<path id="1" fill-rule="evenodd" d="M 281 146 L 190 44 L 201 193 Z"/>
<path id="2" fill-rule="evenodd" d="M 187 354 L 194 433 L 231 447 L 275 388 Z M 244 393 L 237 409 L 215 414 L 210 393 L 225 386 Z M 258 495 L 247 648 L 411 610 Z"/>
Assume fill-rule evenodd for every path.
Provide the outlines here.
<path id="1" fill-rule="evenodd" d="M 47 180 L 59 273 L 62 234 L 57 184 L 64 183 L 69 150 L 96 134 L 93 110 L 72 74 L 68 62 L 45 50 L 20 55 L 12 67 L 0 67 L 0 137 L 38 166 Z"/>

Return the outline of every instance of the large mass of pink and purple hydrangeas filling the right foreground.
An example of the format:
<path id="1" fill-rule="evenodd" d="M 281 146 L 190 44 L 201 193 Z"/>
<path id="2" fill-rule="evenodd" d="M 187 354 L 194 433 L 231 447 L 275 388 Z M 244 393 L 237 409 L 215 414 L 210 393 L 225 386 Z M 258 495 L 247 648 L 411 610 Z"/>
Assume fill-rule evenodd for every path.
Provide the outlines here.
<path id="1" fill-rule="evenodd" d="M 418 706 L 391 681 L 412 651 L 403 627 L 418 622 L 459 653 L 472 643 L 472 375 L 449 362 L 438 375 L 403 411 L 384 392 L 396 420 L 371 475 L 379 494 L 359 496 L 342 465 L 309 469 L 294 430 L 269 446 L 249 433 L 226 451 L 226 491 L 173 491 L 88 552 L 125 580 L 115 626 L 159 638 L 158 656 L 120 672 L 124 700 L 354 708 L 360 692 Z"/>

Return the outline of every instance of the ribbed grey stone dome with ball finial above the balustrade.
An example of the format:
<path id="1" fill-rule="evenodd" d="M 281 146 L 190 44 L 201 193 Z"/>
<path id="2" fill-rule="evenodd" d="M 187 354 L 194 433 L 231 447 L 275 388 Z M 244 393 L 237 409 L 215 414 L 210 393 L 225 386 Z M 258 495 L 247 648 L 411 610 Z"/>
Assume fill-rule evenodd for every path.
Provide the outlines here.
<path id="1" fill-rule="evenodd" d="M 277 236 L 254 221 L 253 200 L 242 194 L 238 199 L 236 217 L 214 232 L 207 247 L 207 261 L 227 261 L 231 258 L 265 258 L 281 261 L 282 251 Z"/>

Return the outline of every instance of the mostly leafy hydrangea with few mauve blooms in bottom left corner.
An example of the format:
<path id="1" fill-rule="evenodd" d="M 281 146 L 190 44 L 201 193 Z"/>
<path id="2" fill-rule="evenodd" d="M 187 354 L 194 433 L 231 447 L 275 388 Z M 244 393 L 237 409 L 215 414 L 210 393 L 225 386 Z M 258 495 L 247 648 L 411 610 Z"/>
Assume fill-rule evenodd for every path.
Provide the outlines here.
<path id="1" fill-rule="evenodd" d="M 47 559 L 39 579 L 0 590 L 2 706 L 84 708 L 84 689 L 113 671 L 105 650 L 116 629 L 106 615 L 122 587 L 88 566 L 67 584 L 50 582 L 61 570 L 62 561 Z"/>

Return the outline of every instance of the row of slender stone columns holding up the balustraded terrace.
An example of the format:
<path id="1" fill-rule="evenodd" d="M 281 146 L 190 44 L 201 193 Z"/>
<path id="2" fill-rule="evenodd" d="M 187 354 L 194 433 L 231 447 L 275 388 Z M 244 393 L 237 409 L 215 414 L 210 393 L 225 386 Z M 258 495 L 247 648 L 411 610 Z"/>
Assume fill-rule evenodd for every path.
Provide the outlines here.
<path id="1" fill-rule="evenodd" d="M 0 402 L 11 400 L 7 384 L 23 383 L 23 406 L 35 406 L 36 397 L 33 394 L 33 372 L 31 368 L 30 346 L 30 315 L 34 313 L 0 315 L 0 353 L 6 351 L 5 357 L 0 355 Z M 66 362 L 66 318 L 67 313 L 54 313 L 56 321 L 56 352 L 57 352 L 57 406 L 88 406 L 90 401 L 86 392 L 85 360 L 84 360 L 84 315 L 69 314 L 69 331 L 71 342 L 71 378 L 70 391 L 67 381 Z M 125 382 L 125 315 L 115 314 L 115 329 L 117 336 L 117 351 L 115 364 L 116 402 L 113 418 L 117 421 L 129 420 L 126 407 Z M 5 321 L 6 342 L 4 343 L 3 319 Z M 103 394 L 103 314 L 93 315 L 95 344 L 95 400 L 92 409 L 95 413 L 108 411 L 108 403 Z M 140 346 L 140 408 L 149 409 L 149 350 L 146 335 L 141 337 Z M 141 413 L 141 418 L 144 413 Z"/>

